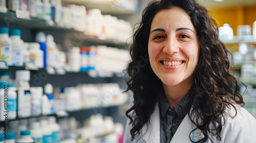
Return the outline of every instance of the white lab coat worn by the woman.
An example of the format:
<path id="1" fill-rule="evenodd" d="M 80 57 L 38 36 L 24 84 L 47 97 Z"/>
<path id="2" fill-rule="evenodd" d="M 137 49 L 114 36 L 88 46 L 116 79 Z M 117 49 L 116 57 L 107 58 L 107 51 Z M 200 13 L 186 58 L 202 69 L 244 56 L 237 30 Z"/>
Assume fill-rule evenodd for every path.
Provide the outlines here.
<path id="1" fill-rule="evenodd" d="M 211 137 L 214 143 L 255 143 L 256 142 L 256 120 L 255 118 L 239 105 L 234 105 L 237 108 L 237 115 L 232 118 L 225 115 L 225 124 L 221 132 L 221 141 L 216 137 Z M 231 116 L 236 114 L 236 111 L 232 106 L 231 109 L 226 109 L 226 112 Z M 140 131 L 138 140 L 131 141 L 130 130 L 132 128 L 129 125 L 130 120 L 127 121 L 124 132 L 124 143 L 137 142 L 137 143 L 160 143 L 160 116 L 158 105 L 155 111 L 151 115 L 151 124 L 145 124 Z M 190 132 L 195 129 L 195 125 L 191 123 L 188 115 L 186 115 L 177 129 L 174 137 L 170 143 L 190 143 Z M 163 143 L 163 142 L 162 142 Z M 206 143 L 210 143 L 208 138 Z"/>

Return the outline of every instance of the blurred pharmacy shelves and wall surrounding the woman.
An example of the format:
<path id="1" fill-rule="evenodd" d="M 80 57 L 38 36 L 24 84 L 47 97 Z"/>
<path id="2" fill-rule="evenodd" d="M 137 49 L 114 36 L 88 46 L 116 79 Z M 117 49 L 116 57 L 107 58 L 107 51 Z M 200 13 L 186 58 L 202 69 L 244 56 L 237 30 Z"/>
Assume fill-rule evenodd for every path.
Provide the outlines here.
<path id="1" fill-rule="evenodd" d="M 133 103 L 123 69 L 148 3 L 0 0 L 0 142 L 122 142 Z M 216 20 L 256 117 L 256 1 L 198 3 Z"/>

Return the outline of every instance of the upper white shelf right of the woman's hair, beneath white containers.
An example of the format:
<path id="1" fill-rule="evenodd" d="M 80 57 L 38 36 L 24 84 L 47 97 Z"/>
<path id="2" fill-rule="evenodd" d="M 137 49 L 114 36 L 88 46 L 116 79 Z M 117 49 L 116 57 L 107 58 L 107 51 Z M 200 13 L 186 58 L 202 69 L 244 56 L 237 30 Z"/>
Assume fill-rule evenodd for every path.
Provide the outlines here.
<path id="1" fill-rule="evenodd" d="M 256 35 L 236 35 L 232 39 L 223 38 L 222 42 L 225 44 L 236 44 L 241 42 L 256 44 Z"/>

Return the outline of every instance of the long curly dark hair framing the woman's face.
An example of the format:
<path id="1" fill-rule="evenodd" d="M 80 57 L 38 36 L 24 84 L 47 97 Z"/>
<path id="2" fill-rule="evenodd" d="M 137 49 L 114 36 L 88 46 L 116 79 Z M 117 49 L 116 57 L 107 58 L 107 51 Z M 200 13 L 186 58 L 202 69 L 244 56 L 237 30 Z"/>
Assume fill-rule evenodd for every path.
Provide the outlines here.
<path id="1" fill-rule="evenodd" d="M 134 140 L 143 125 L 149 122 L 158 103 L 157 94 L 159 90 L 163 90 L 162 82 L 155 75 L 148 59 L 147 44 L 151 23 L 157 12 L 173 7 L 185 10 L 190 16 L 200 45 L 199 61 L 193 73 L 193 87 L 196 92 L 191 94 L 188 103 L 193 106 L 188 113 L 189 119 L 204 133 L 205 137 L 199 142 L 206 141 L 209 136 L 216 136 L 221 140 L 220 133 L 225 124 L 224 115 L 227 114 L 225 109 L 233 106 L 232 104 L 244 106 L 243 97 L 238 92 L 238 84 L 243 83 L 230 74 L 227 56 L 229 52 L 218 39 L 216 21 L 211 18 L 207 9 L 195 0 L 154 1 L 142 12 L 142 20 L 133 35 L 134 42 L 130 49 L 132 61 L 126 69 L 125 91 L 131 90 L 134 94 L 134 105 L 126 111 L 126 116 L 132 124 L 131 140 Z"/>

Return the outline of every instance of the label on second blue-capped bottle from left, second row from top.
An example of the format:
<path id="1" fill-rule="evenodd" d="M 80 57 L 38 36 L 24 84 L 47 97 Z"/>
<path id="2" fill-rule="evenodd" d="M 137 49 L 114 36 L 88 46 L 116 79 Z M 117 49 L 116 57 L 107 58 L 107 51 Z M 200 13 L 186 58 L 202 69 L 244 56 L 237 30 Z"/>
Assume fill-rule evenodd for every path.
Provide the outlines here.
<path id="1" fill-rule="evenodd" d="M 21 59 L 21 47 L 18 44 L 18 42 L 12 41 L 12 65 L 18 66 L 21 65 L 20 59 Z"/>

